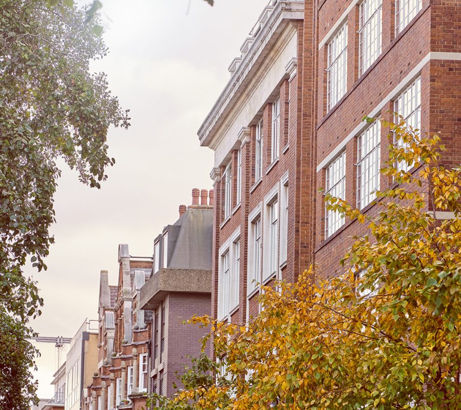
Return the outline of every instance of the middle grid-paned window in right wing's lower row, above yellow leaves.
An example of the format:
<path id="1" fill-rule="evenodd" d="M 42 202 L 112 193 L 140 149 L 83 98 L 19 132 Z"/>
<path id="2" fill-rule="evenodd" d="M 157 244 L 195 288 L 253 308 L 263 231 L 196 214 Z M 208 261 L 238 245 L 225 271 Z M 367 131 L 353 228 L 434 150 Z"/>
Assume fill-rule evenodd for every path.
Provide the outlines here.
<path id="1" fill-rule="evenodd" d="M 374 121 L 359 136 L 357 152 L 357 206 L 366 207 L 380 189 L 381 123 Z"/>

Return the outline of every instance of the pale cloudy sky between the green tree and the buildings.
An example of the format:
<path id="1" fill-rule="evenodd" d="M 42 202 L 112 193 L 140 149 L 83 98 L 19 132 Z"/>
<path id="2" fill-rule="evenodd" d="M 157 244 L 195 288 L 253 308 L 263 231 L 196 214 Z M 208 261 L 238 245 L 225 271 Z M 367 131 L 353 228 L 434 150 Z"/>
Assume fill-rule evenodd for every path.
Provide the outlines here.
<path id="1" fill-rule="evenodd" d="M 131 255 L 152 255 L 154 237 L 177 219 L 180 204 L 191 203 L 192 188 L 212 188 L 213 152 L 199 146 L 197 130 L 268 0 L 102 3 L 110 53 L 92 68 L 108 74 L 132 126 L 109 131 L 116 164 L 101 190 L 69 170 L 59 180 L 48 271 L 27 270 L 45 299 L 32 323 L 41 336 L 72 337 L 85 318 L 97 319 L 99 271 L 109 270 L 116 283 L 118 244 L 128 243 Z M 38 347 L 38 396 L 49 398 L 56 349 Z"/>

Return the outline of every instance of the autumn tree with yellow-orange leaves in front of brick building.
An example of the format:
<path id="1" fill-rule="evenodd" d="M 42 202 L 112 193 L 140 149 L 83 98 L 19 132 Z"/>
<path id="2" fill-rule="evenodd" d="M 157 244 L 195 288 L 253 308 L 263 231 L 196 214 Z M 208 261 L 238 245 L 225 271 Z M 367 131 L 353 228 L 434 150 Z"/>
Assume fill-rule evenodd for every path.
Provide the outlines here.
<path id="1" fill-rule="evenodd" d="M 162 408 L 461 409 L 461 168 L 439 165 L 438 134 L 382 124 L 403 142 L 382 170 L 399 185 L 378 193 L 374 216 L 326 197 L 367 227 L 344 274 L 322 281 L 312 267 L 262 286 L 248 324 L 194 317 L 212 326 L 229 382 L 184 388 Z M 395 167 L 404 161 L 413 173 Z"/>

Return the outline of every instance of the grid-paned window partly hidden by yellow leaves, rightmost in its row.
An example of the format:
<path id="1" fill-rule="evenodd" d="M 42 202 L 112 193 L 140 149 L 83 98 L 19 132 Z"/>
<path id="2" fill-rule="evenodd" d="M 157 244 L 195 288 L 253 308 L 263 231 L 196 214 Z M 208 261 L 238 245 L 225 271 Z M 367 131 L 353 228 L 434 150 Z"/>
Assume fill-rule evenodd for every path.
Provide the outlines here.
<path id="1" fill-rule="evenodd" d="M 417 77 L 394 101 L 394 112 L 405 119 L 408 126 L 413 129 L 421 128 L 421 76 Z M 397 118 L 395 120 L 399 122 Z M 397 147 L 408 148 L 402 139 L 396 140 Z M 400 171 L 408 171 L 411 166 L 405 161 L 396 164 Z"/>

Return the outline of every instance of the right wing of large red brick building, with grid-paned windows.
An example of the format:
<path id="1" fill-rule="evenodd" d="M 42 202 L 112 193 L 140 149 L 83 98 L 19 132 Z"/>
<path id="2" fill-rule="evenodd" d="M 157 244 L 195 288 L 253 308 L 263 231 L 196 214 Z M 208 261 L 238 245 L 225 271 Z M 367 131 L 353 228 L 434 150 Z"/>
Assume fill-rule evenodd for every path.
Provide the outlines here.
<path id="1" fill-rule="evenodd" d="M 392 183 L 379 173 L 389 130 L 363 116 L 398 112 L 423 132 L 441 131 L 442 162 L 461 163 L 461 4 L 326 0 L 317 9 L 316 185 L 372 215 L 373 191 Z M 351 236 L 364 227 L 326 212 L 321 194 L 315 222 L 318 271 L 337 274 Z"/>

